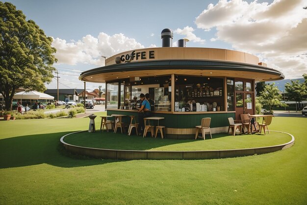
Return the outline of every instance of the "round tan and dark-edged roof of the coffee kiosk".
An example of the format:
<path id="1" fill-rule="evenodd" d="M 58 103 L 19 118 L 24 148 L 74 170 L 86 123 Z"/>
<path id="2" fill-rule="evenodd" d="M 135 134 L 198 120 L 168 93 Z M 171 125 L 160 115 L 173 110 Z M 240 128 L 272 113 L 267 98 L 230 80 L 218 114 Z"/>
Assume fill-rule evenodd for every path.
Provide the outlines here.
<path id="1" fill-rule="evenodd" d="M 131 60 L 132 59 L 132 60 Z M 161 75 L 195 75 L 274 81 L 284 75 L 256 56 L 210 48 L 162 47 L 127 51 L 106 60 L 105 66 L 81 73 L 79 80 L 94 83 Z"/>

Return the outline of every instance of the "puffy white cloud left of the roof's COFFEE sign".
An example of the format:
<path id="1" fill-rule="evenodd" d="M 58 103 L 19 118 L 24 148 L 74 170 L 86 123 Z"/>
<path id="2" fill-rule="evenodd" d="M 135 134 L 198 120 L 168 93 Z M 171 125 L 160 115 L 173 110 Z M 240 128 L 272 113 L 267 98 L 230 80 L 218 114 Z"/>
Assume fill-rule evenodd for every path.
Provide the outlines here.
<path id="1" fill-rule="evenodd" d="M 103 32 L 99 33 L 97 38 L 86 35 L 82 40 L 71 42 L 55 38 L 52 46 L 57 50 L 55 57 L 59 64 L 84 63 L 98 66 L 104 65 L 104 58 L 101 56 L 113 56 L 123 51 L 144 48 L 135 39 L 122 33 L 109 36 Z"/>

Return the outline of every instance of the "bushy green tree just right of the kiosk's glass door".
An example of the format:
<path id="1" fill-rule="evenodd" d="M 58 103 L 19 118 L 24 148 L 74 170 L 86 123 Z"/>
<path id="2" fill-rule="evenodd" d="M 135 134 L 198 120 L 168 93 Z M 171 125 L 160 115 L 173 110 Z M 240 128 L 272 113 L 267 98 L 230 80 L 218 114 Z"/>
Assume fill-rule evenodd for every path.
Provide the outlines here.
<path id="1" fill-rule="evenodd" d="M 263 114 L 273 114 L 273 107 L 275 106 L 285 106 L 281 103 L 281 94 L 279 89 L 275 86 L 275 83 L 272 85 L 265 85 L 264 90 L 260 92 L 258 100 L 262 107 L 265 109 Z"/>

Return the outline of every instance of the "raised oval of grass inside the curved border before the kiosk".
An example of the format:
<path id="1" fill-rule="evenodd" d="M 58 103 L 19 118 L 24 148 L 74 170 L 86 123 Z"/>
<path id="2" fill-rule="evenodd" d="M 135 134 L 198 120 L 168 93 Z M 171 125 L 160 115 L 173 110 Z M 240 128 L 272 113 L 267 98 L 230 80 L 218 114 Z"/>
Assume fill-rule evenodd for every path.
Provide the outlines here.
<path id="1" fill-rule="evenodd" d="M 210 135 L 206 135 L 209 139 Z M 80 132 L 66 136 L 64 141 L 71 145 L 87 146 L 106 149 L 128 150 L 220 150 L 253 148 L 261 146 L 281 145 L 291 141 L 291 136 L 279 132 L 264 135 L 227 135 L 226 133 L 213 134 L 212 140 L 173 140 L 143 136 L 121 134 L 113 132 Z"/>

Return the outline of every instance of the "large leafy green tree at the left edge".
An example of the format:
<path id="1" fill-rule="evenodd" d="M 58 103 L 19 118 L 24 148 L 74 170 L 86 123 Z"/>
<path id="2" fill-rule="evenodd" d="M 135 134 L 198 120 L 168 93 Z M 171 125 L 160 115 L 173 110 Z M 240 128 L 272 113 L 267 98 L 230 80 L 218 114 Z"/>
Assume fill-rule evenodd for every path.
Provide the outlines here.
<path id="1" fill-rule="evenodd" d="M 44 91 L 50 83 L 57 60 L 47 37 L 22 11 L 0 1 L 0 93 L 6 110 L 11 110 L 17 88 Z"/>

